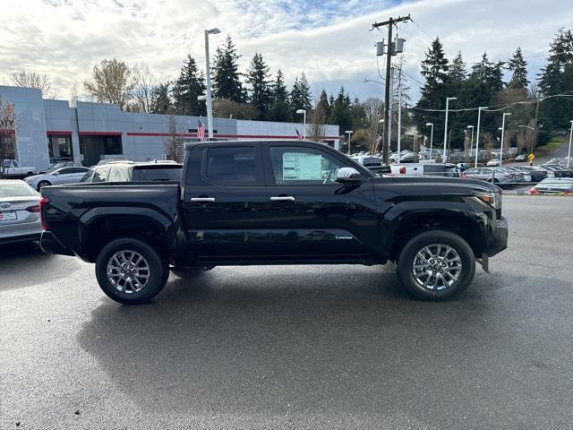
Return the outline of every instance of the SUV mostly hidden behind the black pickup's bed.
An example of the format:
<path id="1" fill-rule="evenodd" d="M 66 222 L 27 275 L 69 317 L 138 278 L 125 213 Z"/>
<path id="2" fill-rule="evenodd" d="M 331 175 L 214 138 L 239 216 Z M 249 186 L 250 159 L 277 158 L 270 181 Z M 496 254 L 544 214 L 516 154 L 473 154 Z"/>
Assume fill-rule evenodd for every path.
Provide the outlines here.
<path id="1" fill-rule="evenodd" d="M 181 179 L 182 164 L 163 162 L 115 162 L 95 166 L 81 177 L 81 183 L 153 182 Z"/>

